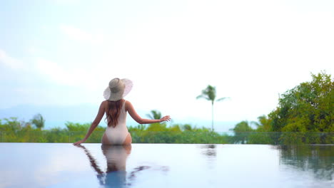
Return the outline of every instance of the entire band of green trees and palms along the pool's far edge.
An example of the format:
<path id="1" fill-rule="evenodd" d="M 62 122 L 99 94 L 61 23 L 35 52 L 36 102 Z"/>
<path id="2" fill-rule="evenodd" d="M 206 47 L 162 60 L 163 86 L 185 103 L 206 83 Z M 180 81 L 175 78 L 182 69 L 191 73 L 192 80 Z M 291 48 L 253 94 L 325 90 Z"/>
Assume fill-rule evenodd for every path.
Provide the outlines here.
<path id="1" fill-rule="evenodd" d="M 322 72 L 312 75 L 312 81 L 300 83 L 280 95 L 278 107 L 268 115 L 258 117 L 258 122 L 243 120 L 231 131 L 222 134 L 206 127 L 189 124 L 153 123 L 128 127 L 133 142 L 141 143 L 240 143 L 240 144 L 333 144 L 334 143 L 334 93 L 333 80 Z M 198 98 L 216 100 L 216 88 L 211 85 Z M 151 110 L 148 117 L 159 119 L 161 113 Z M 66 122 L 66 128 L 43 130 L 41 114 L 29 122 L 17 117 L 0 120 L 0 142 L 74 142 L 83 137 L 90 123 Z M 255 127 L 255 128 L 253 128 Z M 105 128 L 98 126 L 87 142 L 101 142 Z"/>

